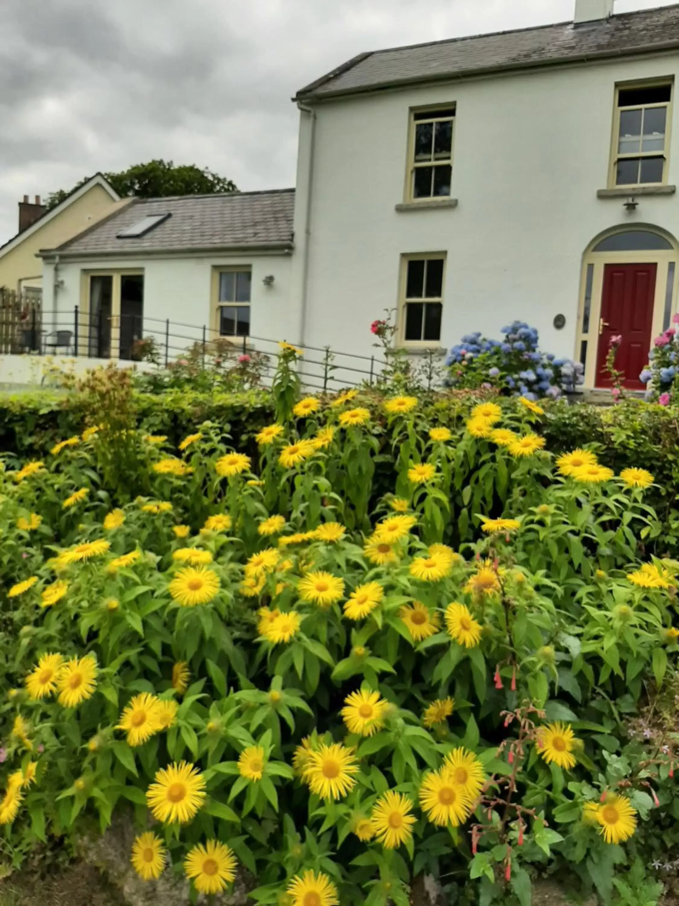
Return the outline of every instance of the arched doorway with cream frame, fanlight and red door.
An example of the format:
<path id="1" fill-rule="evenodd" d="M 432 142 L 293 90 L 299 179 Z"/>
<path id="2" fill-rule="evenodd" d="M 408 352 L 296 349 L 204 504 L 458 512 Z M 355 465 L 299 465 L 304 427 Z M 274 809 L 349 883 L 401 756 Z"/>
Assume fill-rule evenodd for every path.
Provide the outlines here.
<path id="1" fill-rule="evenodd" d="M 635 224 L 607 230 L 585 252 L 576 356 L 586 387 L 610 387 L 603 365 L 612 336 L 621 336 L 616 365 L 625 385 L 638 380 L 653 338 L 669 326 L 677 307 L 679 246 L 657 226 Z"/>

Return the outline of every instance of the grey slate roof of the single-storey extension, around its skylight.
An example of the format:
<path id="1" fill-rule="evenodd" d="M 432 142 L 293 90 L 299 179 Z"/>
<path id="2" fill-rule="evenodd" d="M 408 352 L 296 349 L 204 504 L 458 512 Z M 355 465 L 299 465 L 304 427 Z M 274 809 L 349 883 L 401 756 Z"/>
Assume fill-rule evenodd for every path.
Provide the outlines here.
<path id="1" fill-rule="evenodd" d="M 152 214 L 170 214 L 143 236 L 119 239 L 127 226 Z M 196 251 L 292 246 L 294 189 L 133 198 L 129 205 L 100 220 L 57 249 L 64 255 Z"/>

